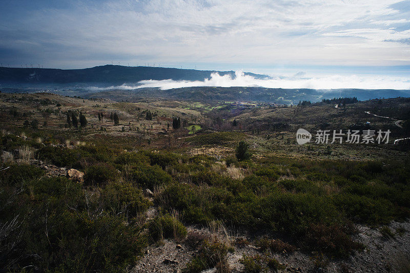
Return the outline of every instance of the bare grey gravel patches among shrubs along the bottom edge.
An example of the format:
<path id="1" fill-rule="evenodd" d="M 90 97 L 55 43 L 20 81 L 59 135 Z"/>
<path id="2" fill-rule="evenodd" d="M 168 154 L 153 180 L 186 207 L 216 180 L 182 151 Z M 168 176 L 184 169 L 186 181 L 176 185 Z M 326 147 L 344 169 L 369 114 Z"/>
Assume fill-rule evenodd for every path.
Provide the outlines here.
<path id="1" fill-rule="evenodd" d="M 333 259 L 326 257 L 327 266 L 315 269 L 312 254 L 295 251 L 293 254 L 273 254 L 279 262 L 286 265 L 283 272 L 409 272 L 410 268 L 410 221 L 392 222 L 389 225 L 392 232 L 397 228 L 406 231 L 394 238 L 384 238 L 378 228 L 359 226 L 361 232 L 354 238 L 366 245 L 363 251 L 356 252 L 347 259 Z M 188 227 L 189 231 L 210 236 L 208 228 Z M 223 240 L 223 235 L 218 234 Z M 241 238 L 247 238 L 241 235 Z M 226 238 L 226 237 L 225 237 Z M 234 253 L 228 253 L 228 262 L 232 272 L 243 272 L 239 263 L 242 255 L 260 254 L 260 251 L 247 243 L 235 246 Z M 195 249 L 190 248 L 186 242 L 163 240 L 156 245 L 150 245 L 146 255 L 130 272 L 180 272 L 195 255 Z M 407 266 L 407 267 L 406 267 Z M 216 272 L 215 268 L 202 271 L 203 273 Z"/>

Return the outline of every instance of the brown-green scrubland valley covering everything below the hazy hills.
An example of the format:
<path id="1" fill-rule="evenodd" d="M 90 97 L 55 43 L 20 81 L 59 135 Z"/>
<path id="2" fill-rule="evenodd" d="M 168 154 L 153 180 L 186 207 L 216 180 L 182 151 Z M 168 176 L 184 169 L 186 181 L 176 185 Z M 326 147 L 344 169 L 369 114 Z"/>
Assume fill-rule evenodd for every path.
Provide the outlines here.
<path id="1" fill-rule="evenodd" d="M 409 268 L 409 98 L 0 101 L 5 271 Z M 391 133 L 300 145 L 300 128 Z"/>

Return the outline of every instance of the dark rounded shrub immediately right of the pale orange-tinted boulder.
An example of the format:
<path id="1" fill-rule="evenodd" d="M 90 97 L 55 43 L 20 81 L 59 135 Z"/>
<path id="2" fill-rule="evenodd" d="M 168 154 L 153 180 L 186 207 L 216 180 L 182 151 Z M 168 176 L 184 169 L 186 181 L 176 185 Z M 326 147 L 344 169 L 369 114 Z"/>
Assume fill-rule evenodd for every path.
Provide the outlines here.
<path id="1" fill-rule="evenodd" d="M 98 163 L 87 168 L 84 175 L 85 185 L 105 185 L 109 181 L 114 181 L 118 177 L 118 172 L 107 163 Z"/>

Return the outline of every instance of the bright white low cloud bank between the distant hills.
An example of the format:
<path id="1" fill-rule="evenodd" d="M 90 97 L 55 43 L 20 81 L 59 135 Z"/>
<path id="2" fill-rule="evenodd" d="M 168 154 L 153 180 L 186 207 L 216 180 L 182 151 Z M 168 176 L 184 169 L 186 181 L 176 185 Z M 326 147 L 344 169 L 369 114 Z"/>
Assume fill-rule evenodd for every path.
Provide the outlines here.
<path id="1" fill-rule="evenodd" d="M 93 88 L 93 90 L 120 89 L 132 90 L 145 87 L 156 87 L 168 90 L 182 87 L 265 87 L 265 88 L 311 88 L 311 89 L 398 89 L 410 90 L 410 78 L 384 75 L 331 75 L 321 77 L 305 77 L 304 73 L 297 73 L 293 77 L 271 77 L 257 79 L 243 72 L 235 72 L 236 76 L 221 76 L 212 73 L 210 79 L 203 81 L 188 80 L 141 80 L 136 85 L 124 84 L 107 88 Z"/>

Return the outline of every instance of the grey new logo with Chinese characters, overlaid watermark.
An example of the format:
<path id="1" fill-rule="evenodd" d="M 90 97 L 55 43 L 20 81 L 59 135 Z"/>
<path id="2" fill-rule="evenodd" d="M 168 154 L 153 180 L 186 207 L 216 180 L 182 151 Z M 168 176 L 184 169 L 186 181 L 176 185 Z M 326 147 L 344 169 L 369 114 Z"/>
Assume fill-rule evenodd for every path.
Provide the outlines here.
<path id="1" fill-rule="evenodd" d="M 315 143 L 323 144 L 333 144 L 333 143 L 388 143 L 388 138 L 390 135 L 390 130 L 387 131 L 377 131 L 376 130 L 347 130 L 347 132 L 342 132 L 342 130 L 318 130 L 315 135 Z M 298 129 L 296 132 L 296 141 L 298 144 L 302 145 L 310 142 L 312 139 L 312 134 L 307 130 L 302 128 Z"/>

